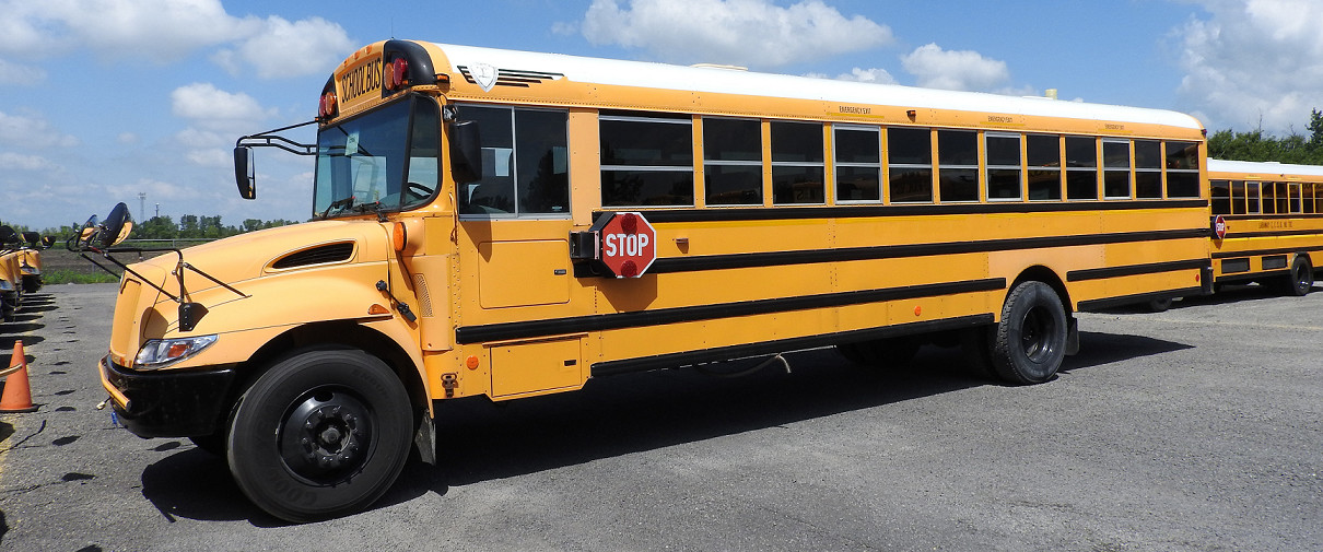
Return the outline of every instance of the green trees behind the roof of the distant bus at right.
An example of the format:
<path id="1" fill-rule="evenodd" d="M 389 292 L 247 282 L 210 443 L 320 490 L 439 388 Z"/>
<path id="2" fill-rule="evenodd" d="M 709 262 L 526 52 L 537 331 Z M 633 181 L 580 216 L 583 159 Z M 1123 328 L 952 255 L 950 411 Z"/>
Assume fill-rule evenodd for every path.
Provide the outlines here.
<path id="1" fill-rule="evenodd" d="M 1234 161 L 1279 161 L 1323 165 L 1323 111 L 1310 110 L 1307 135 L 1286 138 L 1266 135 L 1262 128 L 1248 132 L 1221 130 L 1208 136 L 1208 156 Z"/>

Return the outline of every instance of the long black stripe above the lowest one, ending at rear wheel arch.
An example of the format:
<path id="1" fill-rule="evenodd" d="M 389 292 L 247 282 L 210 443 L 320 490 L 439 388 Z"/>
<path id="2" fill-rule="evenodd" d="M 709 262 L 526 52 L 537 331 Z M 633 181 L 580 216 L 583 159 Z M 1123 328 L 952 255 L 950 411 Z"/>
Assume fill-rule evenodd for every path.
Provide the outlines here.
<path id="1" fill-rule="evenodd" d="M 922 297 L 955 295 L 1004 289 L 1005 278 L 986 278 L 963 282 L 930 283 L 923 286 L 885 287 L 877 290 L 841 291 L 778 299 L 697 304 L 692 307 L 658 308 L 651 311 L 598 314 L 531 322 L 507 322 L 484 326 L 463 326 L 455 330 L 455 342 L 467 344 L 508 339 L 529 339 L 549 335 L 636 328 L 675 324 L 681 322 L 699 322 L 808 308 L 841 307 L 847 304 L 864 304 L 882 300 L 916 299 Z"/>

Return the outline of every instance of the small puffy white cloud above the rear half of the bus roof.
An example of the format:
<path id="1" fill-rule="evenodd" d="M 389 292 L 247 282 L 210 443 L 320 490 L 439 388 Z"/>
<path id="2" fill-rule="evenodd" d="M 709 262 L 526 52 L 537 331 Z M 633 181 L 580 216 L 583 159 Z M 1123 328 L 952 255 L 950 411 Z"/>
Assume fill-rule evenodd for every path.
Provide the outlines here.
<path id="1" fill-rule="evenodd" d="M 930 89 L 988 91 L 1011 79 L 1004 61 L 971 50 L 943 50 L 937 44 L 901 56 L 901 65 L 918 86 Z"/>

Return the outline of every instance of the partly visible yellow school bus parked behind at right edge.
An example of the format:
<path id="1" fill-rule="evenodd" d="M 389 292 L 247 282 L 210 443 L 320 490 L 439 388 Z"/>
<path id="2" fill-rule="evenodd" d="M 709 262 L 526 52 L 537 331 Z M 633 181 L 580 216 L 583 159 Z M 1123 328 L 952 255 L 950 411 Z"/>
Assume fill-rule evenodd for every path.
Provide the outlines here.
<path id="1" fill-rule="evenodd" d="M 1323 167 L 1209 159 L 1208 179 L 1213 283 L 1310 293 L 1323 261 Z"/>

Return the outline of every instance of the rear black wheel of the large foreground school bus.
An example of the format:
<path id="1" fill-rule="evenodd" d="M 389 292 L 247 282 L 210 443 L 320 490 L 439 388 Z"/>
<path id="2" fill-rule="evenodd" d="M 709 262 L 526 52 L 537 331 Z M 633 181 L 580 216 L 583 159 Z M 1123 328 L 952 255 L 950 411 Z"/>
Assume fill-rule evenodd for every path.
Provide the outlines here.
<path id="1" fill-rule="evenodd" d="M 992 335 L 992 369 L 1009 384 L 1041 384 L 1057 373 L 1065 353 L 1066 312 L 1061 298 L 1043 282 L 1015 286 Z"/>

